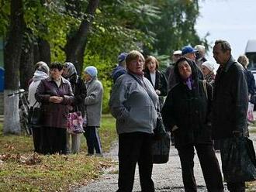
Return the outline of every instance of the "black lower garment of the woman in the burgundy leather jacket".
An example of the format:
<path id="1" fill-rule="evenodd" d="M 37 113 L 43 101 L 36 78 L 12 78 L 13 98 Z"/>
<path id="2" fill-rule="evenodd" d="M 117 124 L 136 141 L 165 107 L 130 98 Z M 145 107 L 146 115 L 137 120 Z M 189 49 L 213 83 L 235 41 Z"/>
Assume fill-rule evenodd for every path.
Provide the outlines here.
<path id="1" fill-rule="evenodd" d="M 67 153 L 66 129 L 43 127 L 41 133 L 41 150 L 43 154 Z"/>

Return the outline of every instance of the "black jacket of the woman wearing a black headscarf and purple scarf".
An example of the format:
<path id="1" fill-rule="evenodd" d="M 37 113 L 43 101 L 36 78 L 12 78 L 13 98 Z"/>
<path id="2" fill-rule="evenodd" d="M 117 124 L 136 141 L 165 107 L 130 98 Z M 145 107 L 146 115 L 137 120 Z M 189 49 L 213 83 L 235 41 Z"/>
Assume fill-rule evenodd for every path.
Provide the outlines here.
<path id="1" fill-rule="evenodd" d="M 189 64 L 192 66 L 192 63 Z M 178 73 L 178 70 L 175 72 Z M 183 81 L 178 81 L 178 84 L 168 92 L 161 110 L 166 129 L 170 131 L 174 125 L 178 126 L 174 131 L 176 148 L 195 143 L 212 143 L 209 127 L 212 87 L 206 83 L 208 95 L 206 98 L 202 80 L 198 79 L 197 71 L 193 67 L 192 79 L 194 81 L 192 90 L 189 90 Z"/>

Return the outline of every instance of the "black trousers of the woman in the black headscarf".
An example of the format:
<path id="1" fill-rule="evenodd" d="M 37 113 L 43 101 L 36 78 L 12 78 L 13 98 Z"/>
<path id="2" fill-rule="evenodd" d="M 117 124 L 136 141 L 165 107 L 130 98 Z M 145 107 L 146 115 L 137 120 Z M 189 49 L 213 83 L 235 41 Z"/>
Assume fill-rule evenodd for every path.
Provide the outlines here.
<path id="1" fill-rule="evenodd" d="M 187 145 L 178 148 L 178 155 L 182 164 L 182 179 L 185 191 L 197 191 L 195 176 L 194 176 L 194 147 L 199 157 L 199 162 L 202 168 L 202 174 L 206 182 L 208 191 L 222 192 L 223 181 L 220 172 L 220 165 L 216 158 L 213 145 L 211 144 L 195 144 Z"/>

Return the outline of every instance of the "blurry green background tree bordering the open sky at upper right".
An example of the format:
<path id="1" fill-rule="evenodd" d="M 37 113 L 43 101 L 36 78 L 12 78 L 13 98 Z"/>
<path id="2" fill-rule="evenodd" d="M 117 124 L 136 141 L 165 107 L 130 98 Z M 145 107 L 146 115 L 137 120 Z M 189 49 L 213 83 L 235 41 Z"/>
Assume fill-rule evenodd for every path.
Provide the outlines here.
<path id="1" fill-rule="evenodd" d="M 194 28 L 199 16 L 197 0 L 162 0 L 152 4 L 161 9 L 160 19 L 147 25 L 148 29 L 156 34 L 154 51 L 169 55 L 174 50 L 181 50 L 183 46 L 189 44 L 192 46 L 203 44 L 206 49 L 208 48 L 206 36 L 201 39 Z"/>

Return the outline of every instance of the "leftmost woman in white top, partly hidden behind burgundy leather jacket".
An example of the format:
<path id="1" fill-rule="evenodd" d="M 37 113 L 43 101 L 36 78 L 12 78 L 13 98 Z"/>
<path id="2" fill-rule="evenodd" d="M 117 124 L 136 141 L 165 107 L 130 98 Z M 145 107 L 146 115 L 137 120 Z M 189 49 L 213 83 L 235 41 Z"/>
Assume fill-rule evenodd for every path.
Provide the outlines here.
<path id="1" fill-rule="evenodd" d="M 50 69 L 47 66 L 47 63 L 44 63 L 43 61 L 40 61 L 38 63 L 40 63 L 40 66 L 36 68 L 36 71 L 32 78 L 32 82 L 29 84 L 28 101 L 29 101 L 29 107 L 33 107 L 33 108 L 40 107 L 40 104 L 36 102 L 36 98 L 35 98 L 36 89 L 40 84 L 40 82 L 49 76 L 49 72 L 50 72 Z M 40 149 L 41 127 L 40 125 L 32 125 L 31 129 L 33 133 L 34 151 L 36 153 L 41 153 L 41 149 Z"/>

